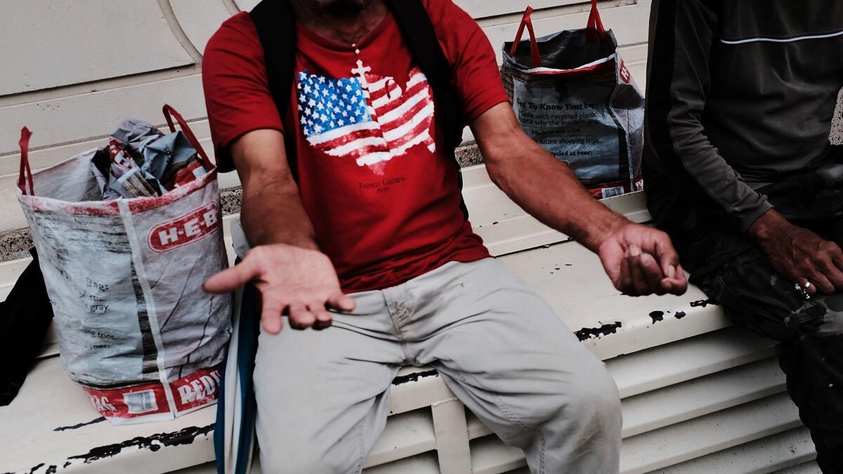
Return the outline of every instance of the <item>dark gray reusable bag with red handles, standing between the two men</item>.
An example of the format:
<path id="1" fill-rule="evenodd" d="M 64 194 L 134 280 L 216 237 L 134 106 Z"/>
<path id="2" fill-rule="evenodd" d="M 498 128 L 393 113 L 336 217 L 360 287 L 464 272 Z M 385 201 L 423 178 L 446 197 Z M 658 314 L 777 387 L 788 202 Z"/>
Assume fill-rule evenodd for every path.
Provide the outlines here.
<path id="1" fill-rule="evenodd" d="M 604 30 L 593 0 L 588 26 L 536 38 L 532 8 L 503 45 L 501 75 L 524 131 L 570 164 L 597 197 L 640 189 L 644 99 Z M 521 42 L 524 27 L 530 40 Z"/>

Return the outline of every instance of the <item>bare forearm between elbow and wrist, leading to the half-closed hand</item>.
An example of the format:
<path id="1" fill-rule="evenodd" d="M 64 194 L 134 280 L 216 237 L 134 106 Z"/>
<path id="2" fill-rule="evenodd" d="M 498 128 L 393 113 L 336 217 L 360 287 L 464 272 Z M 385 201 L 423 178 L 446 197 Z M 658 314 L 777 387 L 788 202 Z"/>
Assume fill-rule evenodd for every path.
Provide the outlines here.
<path id="1" fill-rule="evenodd" d="M 486 165 L 491 179 L 518 206 L 593 251 L 606 234 L 626 223 L 588 194 L 567 164 L 532 140 L 518 142 L 503 148 L 509 156 Z"/>

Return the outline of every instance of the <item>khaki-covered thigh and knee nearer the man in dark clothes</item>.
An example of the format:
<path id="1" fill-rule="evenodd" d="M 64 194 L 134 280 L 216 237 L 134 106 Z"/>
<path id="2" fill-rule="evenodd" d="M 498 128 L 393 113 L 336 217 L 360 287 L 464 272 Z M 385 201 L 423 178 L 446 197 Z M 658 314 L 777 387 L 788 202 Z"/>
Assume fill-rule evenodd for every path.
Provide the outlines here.
<path id="1" fill-rule="evenodd" d="M 429 305 L 438 306 L 429 323 L 441 329 L 416 345 L 419 362 L 436 367 L 505 441 L 527 447 L 537 430 L 561 424 L 584 442 L 602 433 L 613 445 L 601 449 L 616 450 L 620 408 L 614 380 L 550 304 L 500 262 L 483 261 L 441 288 Z M 560 417 L 570 423 L 550 427 Z M 580 431 L 580 421 L 590 426 Z"/>

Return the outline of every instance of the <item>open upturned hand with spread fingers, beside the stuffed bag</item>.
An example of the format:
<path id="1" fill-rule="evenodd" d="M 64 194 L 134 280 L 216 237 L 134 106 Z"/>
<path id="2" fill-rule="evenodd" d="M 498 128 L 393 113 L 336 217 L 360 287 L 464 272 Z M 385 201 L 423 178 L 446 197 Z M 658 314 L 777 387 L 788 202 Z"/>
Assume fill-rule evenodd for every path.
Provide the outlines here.
<path id="1" fill-rule="evenodd" d="M 328 256 L 285 244 L 255 247 L 238 265 L 208 278 L 202 289 L 229 293 L 249 282 L 260 291 L 260 321 L 270 334 L 281 331 L 282 314 L 293 329 L 320 330 L 333 320 L 327 309 L 352 311 L 355 306 L 342 294 Z"/>

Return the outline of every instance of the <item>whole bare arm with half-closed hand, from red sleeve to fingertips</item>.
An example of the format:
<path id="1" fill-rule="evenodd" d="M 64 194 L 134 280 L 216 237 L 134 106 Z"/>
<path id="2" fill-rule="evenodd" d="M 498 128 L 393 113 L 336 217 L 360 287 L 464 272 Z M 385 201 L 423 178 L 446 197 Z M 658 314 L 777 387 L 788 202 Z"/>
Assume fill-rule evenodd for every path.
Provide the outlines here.
<path id="1" fill-rule="evenodd" d="M 616 288 L 631 295 L 685 292 L 667 234 L 632 224 L 595 200 L 567 164 L 524 133 L 510 105 L 492 107 L 471 127 L 491 180 L 542 223 L 597 253 Z"/>

